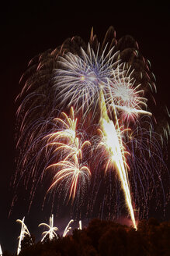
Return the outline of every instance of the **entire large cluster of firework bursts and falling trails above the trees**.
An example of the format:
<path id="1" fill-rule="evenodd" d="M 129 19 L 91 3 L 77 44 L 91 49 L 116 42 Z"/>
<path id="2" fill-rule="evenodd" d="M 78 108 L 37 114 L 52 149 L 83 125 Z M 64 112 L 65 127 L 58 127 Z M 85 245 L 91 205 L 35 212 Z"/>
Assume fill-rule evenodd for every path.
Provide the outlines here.
<path id="1" fill-rule="evenodd" d="M 51 174 L 48 192 L 89 212 L 109 176 L 99 208 L 109 207 L 112 215 L 122 193 L 135 228 L 134 207 L 143 205 L 141 216 L 148 212 L 149 194 L 158 198 L 158 187 L 165 204 L 159 140 L 164 144 L 169 126 L 160 135 L 155 130 L 154 75 L 132 37 L 116 41 L 110 27 L 102 44 L 93 30 L 88 44 L 80 37 L 68 39 L 32 59 L 21 82 L 15 183 L 18 175 L 30 187 L 31 202 Z"/>

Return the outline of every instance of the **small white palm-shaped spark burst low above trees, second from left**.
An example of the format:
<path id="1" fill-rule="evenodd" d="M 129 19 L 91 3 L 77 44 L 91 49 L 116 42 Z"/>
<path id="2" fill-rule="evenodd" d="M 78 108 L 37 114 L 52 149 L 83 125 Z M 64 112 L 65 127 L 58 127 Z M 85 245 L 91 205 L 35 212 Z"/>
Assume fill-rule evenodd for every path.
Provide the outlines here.
<path id="1" fill-rule="evenodd" d="M 55 233 L 55 231 L 57 231 L 58 228 L 56 226 L 54 226 L 54 215 L 51 215 L 51 217 L 50 217 L 50 225 L 48 225 L 46 223 L 41 223 L 39 226 L 46 226 L 49 229 L 42 233 L 43 238 L 42 238 L 41 242 L 43 242 L 43 240 L 46 238 L 46 236 L 48 236 L 50 240 L 53 240 L 54 238 L 58 238 L 57 233 Z"/>

